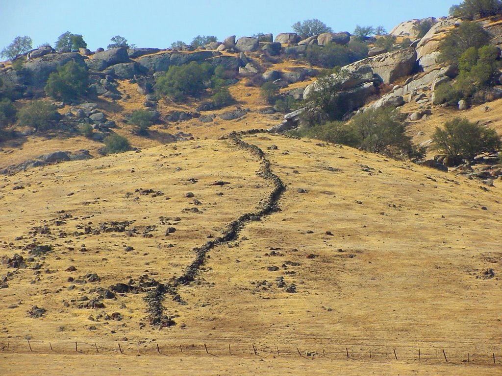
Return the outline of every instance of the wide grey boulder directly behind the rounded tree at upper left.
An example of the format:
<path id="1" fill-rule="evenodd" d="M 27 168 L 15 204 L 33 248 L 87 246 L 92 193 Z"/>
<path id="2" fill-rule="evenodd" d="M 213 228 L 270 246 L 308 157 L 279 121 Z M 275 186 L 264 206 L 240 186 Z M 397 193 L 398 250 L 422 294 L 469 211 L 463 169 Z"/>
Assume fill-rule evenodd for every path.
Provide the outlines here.
<path id="1" fill-rule="evenodd" d="M 65 65 L 69 61 L 75 61 L 82 67 L 86 67 L 85 61 L 87 57 L 80 55 L 77 52 L 69 52 L 64 54 L 48 54 L 41 58 L 32 59 L 24 64 L 30 78 L 30 83 L 37 87 L 44 87 L 49 75 L 55 72 L 58 67 Z"/>

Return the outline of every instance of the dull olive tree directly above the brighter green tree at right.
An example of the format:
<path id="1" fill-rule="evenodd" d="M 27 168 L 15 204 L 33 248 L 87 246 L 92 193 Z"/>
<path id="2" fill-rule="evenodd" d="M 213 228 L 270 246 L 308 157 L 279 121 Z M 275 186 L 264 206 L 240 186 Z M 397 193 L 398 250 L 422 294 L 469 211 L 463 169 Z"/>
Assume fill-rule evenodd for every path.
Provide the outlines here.
<path id="1" fill-rule="evenodd" d="M 476 22 L 464 21 L 453 29 L 439 46 L 440 60 L 457 65 L 460 56 L 469 48 L 476 49 L 487 45 L 490 41 L 489 34 Z"/>

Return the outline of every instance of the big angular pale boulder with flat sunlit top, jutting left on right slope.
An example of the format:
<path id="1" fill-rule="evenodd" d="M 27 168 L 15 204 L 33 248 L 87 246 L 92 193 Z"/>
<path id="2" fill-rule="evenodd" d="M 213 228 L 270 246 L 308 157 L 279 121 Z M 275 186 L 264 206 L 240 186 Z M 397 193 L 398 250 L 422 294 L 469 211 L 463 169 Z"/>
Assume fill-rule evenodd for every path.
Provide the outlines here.
<path id="1" fill-rule="evenodd" d="M 412 74 L 417 68 L 417 52 L 413 48 L 388 52 L 386 54 L 363 59 L 345 66 L 346 69 L 368 65 L 373 73 L 386 84 L 392 84 L 402 77 Z"/>

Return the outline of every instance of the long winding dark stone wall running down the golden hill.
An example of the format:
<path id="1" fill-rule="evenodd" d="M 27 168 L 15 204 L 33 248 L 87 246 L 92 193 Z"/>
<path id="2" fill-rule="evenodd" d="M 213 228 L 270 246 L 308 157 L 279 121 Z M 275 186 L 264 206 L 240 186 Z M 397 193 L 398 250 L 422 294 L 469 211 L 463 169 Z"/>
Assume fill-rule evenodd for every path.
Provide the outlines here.
<path id="1" fill-rule="evenodd" d="M 246 223 L 280 210 L 278 202 L 282 194 L 286 190 L 286 185 L 279 178 L 279 176 L 272 172 L 272 169 L 270 168 L 270 160 L 267 159 L 264 151 L 257 145 L 242 141 L 242 139 L 240 138 L 241 135 L 256 134 L 262 132 L 266 131 L 254 129 L 238 133 L 232 132 L 228 136 L 222 137 L 222 139 L 228 139 L 235 143 L 238 148 L 247 150 L 254 154 L 260 160 L 260 163 L 262 165 L 260 171 L 258 172 L 258 175 L 263 177 L 265 180 L 271 181 L 274 184 L 274 190 L 269 194 L 268 198 L 264 200 L 265 205 L 263 205 L 260 211 L 242 214 L 239 218 L 237 218 L 235 221 L 232 221 L 226 226 L 226 230 L 222 234 L 222 236 L 208 241 L 201 247 L 194 248 L 193 250 L 196 254 L 195 260 L 185 269 L 184 273 L 180 277 L 171 280 L 165 285 L 159 285 L 148 293 L 145 300 L 148 303 L 149 319 L 151 325 L 160 327 L 175 325 L 172 317 L 168 317 L 164 312 L 164 306 L 162 305 L 164 296 L 166 295 L 166 293 L 168 293 L 175 297 L 173 300 L 176 300 L 181 304 L 186 304 L 180 298 L 179 294 L 176 292 L 176 289 L 179 285 L 186 285 L 194 281 L 195 276 L 198 274 L 200 268 L 205 264 L 206 255 L 210 250 L 222 244 L 236 240 L 238 234 L 244 228 Z"/>

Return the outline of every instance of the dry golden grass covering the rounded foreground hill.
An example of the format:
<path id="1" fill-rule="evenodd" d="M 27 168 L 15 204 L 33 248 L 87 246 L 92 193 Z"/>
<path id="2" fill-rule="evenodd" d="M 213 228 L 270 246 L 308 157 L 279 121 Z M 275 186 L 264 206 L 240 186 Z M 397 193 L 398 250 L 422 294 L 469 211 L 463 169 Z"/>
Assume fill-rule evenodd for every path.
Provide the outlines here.
<path id="1" fill-rule="evenodd" d="M 0 344 L 12 341 L 10 352 L 0 352 L 4 374 L 35 369 L 83 374 L 91 367 L 105 374 L 311 374 L 312 368 L 318 374 L 354 375 L 500 372 L 500 183 L 485 192 L 473 180 L 347 147 L 268 134 L 243 139 L 264 149 L 273 171 L 288 184 L 281 212 L 249 223 L 237 241 L 212 250 L 200 283 L 178 290 L 188 304 L 166 296 L 166 311 L 179 317 L 176 326 L 161 331 L 140 329 L 147 316 L 143 293 L 104 300 L 101 310 L 79 309 L 78 299 L 94 297 L 98 286 L 144 274 L 161 282 L 180 275 L 193 260 L 193 247 L 255 210 L 271 191 L 255 174 L 259 164 L 252 155 L 230 141 L 194 140 L 4 177 L 0 256 L 28 257 L 22 248 L 35 239 L 54 245 L 45 259 L 36 258 L 40 274 L 0 266 L 1 275 L 16 272 L 10 287 L 0 289 Z M 278 149 L 267 150 L 273 144 Z M 187 181 L 191 177 L 198 182 Z M 217 179 L 230 184 L 209 185 Z M 13 191 L 16 185 L 25 189 Z M 140 187 L 165 196 L 126 198 Z M 184 197 L 189 191 L 202 203 L 197 208 L 206 209 L 202 214 L 182 212 L 194 207 L 193 199 Z M 73 218 L 56 226 L 61 210 Z M 167 225 L 160 224 L 160 216 L 180 217 L 177 232 L 164 236 Z M 149 225 L 157 229 L 152 238 L 73 234 L 77 225 L 124 220 L 137 221 L 132 226 L 141 231 Z M 51 234 L 31 238 L 29 231 L 42 224 Z M 68 237 L 58 238 L 60 230 Z M 83 244 L 88 252 L 79 252 Z M 135 250 L 124 252 L 125 246 Z M 279 255 L 267 256 L 271 248 Z M 65 272 L 70 265 L 77 270 Z M 270 266 L 279 269 L 269 271 Z M 479 278 L 488 268 L 495 278 Z M 69 276 L 91 272 L 101 281 L 69 289 Z M 278 277 L 298 292 L 286 293 L 277 286 Z M 13 304 L 17 307 L 8 308 Z M 35 304 L 47 309 L 44 317 L 28 317 Z M 124 319 L 88 319 L 100 312 L 120 312 Z M 37 353 L 27 353 L 27 335 Z M 51 353 L 49 341 L 60 354 Z M 73 341 L 89 354 L 97 342 L 101 354 L 71 356 Z M 140 344 L 143 355 L 116 354 L 117 342 L 129 355 L 137 354 Z M 156 353 L 156 343 L 168 356 Z M 218 357 L 206 354 L 203 343 Z M 179 344 L 184 354 L 176 352 Z M 232 356 L 225 355 L 228 344 Z M 253 355 L 252 344 L 263 358 Z M 274 357 L 275 346 L 280 356 Z M 297 346 L 318 355 L 314 361 L 301 358 Z M 346 347 L 358 360 L 343 359 Z M 394 348 L 399 360 L 392 360 Z M 422 362 L 416 359 L 419 348 Z M 451 363 L 436 361 L 435 350 L 441 349 Z M 475 358 L 470 365 L 462 362 L 468 351 Z M 492 352 L 498 365 L 489 365 Z"/>

